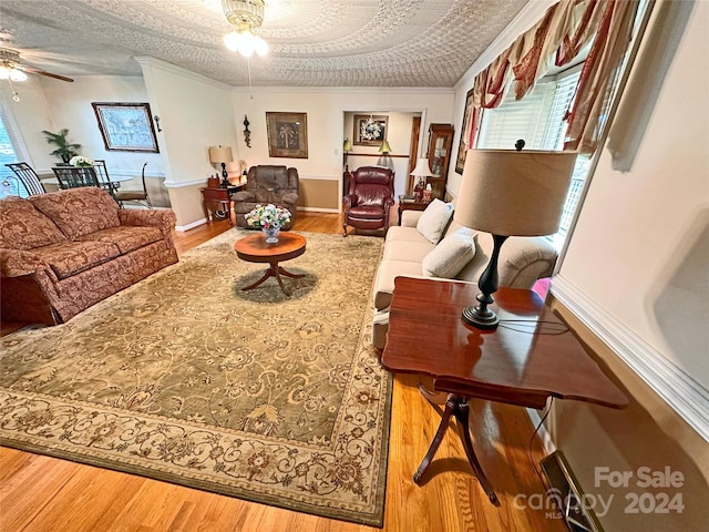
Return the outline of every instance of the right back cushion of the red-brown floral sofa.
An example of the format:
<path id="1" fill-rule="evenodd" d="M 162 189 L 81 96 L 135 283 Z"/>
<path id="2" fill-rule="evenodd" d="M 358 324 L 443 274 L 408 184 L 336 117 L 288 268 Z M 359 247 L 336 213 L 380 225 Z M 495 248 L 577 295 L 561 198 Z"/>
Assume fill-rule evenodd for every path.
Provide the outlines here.
<path id="1" fill-rule="evenodd" d="M 29 201 L 71 239 L 121 225 L 119 205 L 109 193 L 94 186 L 40 194 Z"/>

